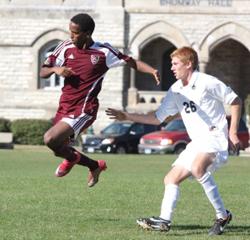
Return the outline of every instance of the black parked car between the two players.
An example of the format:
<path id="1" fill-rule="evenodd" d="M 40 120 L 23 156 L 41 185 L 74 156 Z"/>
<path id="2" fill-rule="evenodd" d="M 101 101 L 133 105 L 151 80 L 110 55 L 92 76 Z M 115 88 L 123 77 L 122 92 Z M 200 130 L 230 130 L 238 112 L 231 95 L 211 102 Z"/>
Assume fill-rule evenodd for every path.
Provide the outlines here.
<path id="1" fill-rule="evenodd" d="M 138 153 L 140 138 L 159 128 L 149 124 L 116 121 L 104 128 L 99 135 L 87 136 L 82 150 L 88 153 Z"/>

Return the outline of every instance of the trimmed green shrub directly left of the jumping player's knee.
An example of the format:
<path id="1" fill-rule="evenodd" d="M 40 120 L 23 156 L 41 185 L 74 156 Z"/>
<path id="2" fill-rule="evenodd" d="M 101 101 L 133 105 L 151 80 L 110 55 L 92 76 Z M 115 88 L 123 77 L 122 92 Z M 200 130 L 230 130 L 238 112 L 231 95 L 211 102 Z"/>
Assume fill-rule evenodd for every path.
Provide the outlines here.
<path id="1" fill-rule="evenodd" d="M 19 119 L 11 124 L 14 143 L 43 145 L 43 135 L 51 127 L 49 120 Z"/>

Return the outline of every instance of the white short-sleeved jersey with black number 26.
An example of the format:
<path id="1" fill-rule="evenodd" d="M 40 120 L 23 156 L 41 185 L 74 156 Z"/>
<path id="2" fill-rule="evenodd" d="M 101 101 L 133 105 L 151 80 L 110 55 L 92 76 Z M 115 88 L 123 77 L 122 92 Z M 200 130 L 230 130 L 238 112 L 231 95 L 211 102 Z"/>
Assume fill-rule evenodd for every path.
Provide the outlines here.
<path id="1" fill-rule="evenodd" d="M 224 104 L 231 104 L 236 97 L 232 89 L 217 78 L 195 71 L 187 86 L 183 86 L 181 80 L 171 86 L 156 117 L 163 122 L 179 112 L 193 141 L 208 144 L 219 138 L 216 149 L 226 150 L 228 127 Z"/>

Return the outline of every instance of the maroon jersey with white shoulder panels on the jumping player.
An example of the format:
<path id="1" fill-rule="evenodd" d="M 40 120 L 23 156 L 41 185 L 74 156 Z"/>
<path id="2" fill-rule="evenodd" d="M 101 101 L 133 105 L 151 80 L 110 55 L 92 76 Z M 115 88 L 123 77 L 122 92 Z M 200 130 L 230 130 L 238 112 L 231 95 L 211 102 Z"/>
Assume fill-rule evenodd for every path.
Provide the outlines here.
<path id="1" fill-rule="evenodd" d="M 75 118 L 86 113 L 96 117 L 97 96 L 106 72 L 124 65 L 129 59 L 107 43 L 95 42 L 88 49 L 78 49 L 71 40 L 60 43 L 43 67 L 66 66 L 75 75 L 64 79 L 57 116 Z"/>

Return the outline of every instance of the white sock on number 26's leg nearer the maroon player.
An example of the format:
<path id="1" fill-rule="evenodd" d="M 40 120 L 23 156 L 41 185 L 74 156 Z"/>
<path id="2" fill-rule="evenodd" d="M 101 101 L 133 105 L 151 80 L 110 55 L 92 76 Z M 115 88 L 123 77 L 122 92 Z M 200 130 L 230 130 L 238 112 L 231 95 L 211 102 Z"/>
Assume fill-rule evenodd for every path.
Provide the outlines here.
<path id="1" fill-rule="evenodd" d="M 160 218 L 171 221 L 173 211 L 179 198 L 179 186 L 175 184 L 165 185 L 165 193 L 161 204 Z"/>

